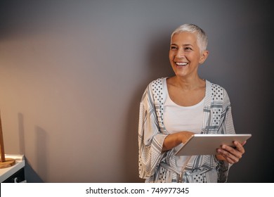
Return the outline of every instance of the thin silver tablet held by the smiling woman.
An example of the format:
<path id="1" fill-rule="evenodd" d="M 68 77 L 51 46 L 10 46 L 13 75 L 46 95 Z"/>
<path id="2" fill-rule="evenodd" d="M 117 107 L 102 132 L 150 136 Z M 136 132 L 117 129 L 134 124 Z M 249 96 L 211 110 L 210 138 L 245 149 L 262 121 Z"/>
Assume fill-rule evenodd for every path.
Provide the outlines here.
<path id="1" fill-rule="evenodd" d="M 252 134 L 194 134 L 176 155 L 215 155 L 221 145 L 234 146 L 233 141 L 246 141 Z"/>

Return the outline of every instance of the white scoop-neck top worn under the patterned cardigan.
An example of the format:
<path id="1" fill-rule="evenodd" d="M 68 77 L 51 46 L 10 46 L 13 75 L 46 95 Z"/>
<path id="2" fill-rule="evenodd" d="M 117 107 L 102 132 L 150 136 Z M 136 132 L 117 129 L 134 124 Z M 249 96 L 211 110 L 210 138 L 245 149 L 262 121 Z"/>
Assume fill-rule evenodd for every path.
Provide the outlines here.
<path id="1" fill-rule="evenodd" d="M 202 131 L 204 98 L 200 103 L 197 103 L 194 106 L 179 106 L 169 97 L 167 78 L 163 81 L 164 91 L 167 94 L 167 98 L 164 102 L 163 115 L 164 127 L 167 129 L 167 132 L 169 132 L 169 134 L 174 134 L 176 132 L 188 131 L 200 134 Z M 177 151 L 181 146 L 183 146 L 183 144 L 176 146 L 174 151 Z M 186 158 L 188 158 L 188 156 L 176 156 L 178 170 L 181 170 Z"/>

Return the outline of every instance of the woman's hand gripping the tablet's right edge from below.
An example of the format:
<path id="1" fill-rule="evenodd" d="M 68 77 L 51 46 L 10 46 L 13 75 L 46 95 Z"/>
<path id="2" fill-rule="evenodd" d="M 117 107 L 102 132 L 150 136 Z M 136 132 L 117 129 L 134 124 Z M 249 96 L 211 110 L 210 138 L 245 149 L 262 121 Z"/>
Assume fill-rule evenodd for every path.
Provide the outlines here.
<path id="1" fill-rule="evenodd" d="M 218 155 L 216 155 L 216 158 L 218 160 L 226 160 L 226 162 L 231 164 L 237 163 L 242 158 L 242 154 L 244 154 L 244 144 L 246 142 L 244 141 L 244 143 L 240 144 L 239 141 L 234 141 L 235 148 L 222 145 L 221 148 L 217 149 Z"/>

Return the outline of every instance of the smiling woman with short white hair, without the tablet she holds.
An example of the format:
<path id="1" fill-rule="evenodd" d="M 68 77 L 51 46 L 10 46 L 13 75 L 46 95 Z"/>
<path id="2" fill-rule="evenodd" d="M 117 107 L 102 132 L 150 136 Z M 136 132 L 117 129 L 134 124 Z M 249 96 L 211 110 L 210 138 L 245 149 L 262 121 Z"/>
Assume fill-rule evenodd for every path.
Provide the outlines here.
<path id="1" fill-rule="evenodd" d="M 197 25 L 181 25 L 171 34 L 175 75 L 151 82 L 141 99 L 139 175 L 145 182 L 226 182 L 230 165 L 242 158 L 244 144 L 237 141 L 236 148 L 222 146 L 216 155 L 174 154 L 195 133 L 235 134 L 226 90 L 198 75 L 208 55 L 207 35 Z"/>

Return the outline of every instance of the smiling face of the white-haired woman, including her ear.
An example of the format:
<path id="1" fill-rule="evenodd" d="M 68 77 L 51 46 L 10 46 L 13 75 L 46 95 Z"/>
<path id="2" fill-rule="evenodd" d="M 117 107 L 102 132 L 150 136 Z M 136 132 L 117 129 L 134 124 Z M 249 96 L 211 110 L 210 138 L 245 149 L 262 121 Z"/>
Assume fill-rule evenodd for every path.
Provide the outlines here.
<path id="1" fill-rule="evenodd" d="M 207 55 L 208 51 L 200 53 L 195 33 L 180 32 L 171 38 L 169 61 L 176 76 L 197 76 L 198 67 Z"/>

